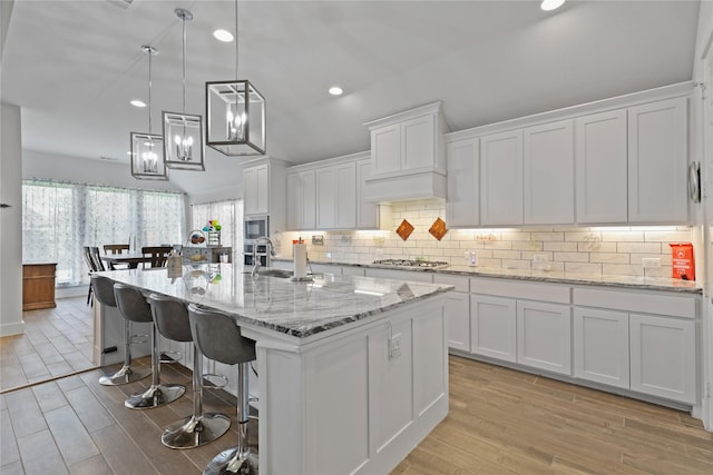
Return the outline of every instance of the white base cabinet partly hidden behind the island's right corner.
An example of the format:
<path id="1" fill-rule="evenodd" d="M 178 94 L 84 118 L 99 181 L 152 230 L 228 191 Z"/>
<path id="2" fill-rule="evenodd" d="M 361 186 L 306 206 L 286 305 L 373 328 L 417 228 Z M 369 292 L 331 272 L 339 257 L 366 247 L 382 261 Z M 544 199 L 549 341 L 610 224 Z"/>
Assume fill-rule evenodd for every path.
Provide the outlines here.
<path id="1" fill-rule="evenodd" d="M 468 277 L 436 274 L 433 284 L 456 287 L 447 294 L 448 347 L 470 352 L 470 279 Z"/>

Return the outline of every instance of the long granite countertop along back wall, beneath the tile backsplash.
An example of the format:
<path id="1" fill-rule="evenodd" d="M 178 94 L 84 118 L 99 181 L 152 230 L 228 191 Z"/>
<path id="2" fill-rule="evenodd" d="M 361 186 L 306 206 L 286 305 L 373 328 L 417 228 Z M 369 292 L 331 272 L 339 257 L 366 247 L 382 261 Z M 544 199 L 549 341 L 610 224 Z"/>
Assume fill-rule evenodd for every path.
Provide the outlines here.
<path id="1" fill-rule="evenodd" d="M 274 260 L 292 261 L 287 258 L 275 258 Z M 433 274 L 450 274 L 461 275 L 468 277 L 492 277 L 492 278 L 506 278 L 517 280 L 530 280 L 530 281 L 546 281 L 555 284 L 572 284 L 572 285 L 593 285 L 604 287 L 618 287 L 618 288 L 632 288 L 632 289 L 645 289 L 645 290 L 664 290 L 664 291 L 677 291 L 688 294 L 702 294 L 703 289 L 691 280 L 672 279 L 667 277 L 644 277 L 644 276 L 617 276 L 617 275 L 600 275 L 600 274 L 577 274 L 565 271 L 545 271 L 545 270 L 530 270 L 530 269 L 502 269 L 497 267 L 469 267 L 469 266 L 448 266 L 439 269 L 432 268 L 419 268 L 419 267 L 394 267 L 382 266 L 375 264 L 364 263 L 338 263 L 338 261 L 316 261 L 313 264 L 328 264 L 335 266 L 353 266 L 364 267 L 372 269 L 391 269 L 391 270 L 408 270 L 417 273 L 433 273 Z"/>

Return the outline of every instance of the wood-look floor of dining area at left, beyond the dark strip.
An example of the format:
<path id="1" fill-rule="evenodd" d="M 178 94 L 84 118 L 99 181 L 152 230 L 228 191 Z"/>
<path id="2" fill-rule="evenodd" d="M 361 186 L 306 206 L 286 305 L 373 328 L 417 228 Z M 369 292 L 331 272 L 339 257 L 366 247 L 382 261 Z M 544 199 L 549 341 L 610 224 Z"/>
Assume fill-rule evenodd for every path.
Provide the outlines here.
<path id="1" fill-rule="evenodd" d="M 0 338 L 0 392 L 95 367 L 92 317 L 86 297 L 22 313 L 25 334 Z"/>

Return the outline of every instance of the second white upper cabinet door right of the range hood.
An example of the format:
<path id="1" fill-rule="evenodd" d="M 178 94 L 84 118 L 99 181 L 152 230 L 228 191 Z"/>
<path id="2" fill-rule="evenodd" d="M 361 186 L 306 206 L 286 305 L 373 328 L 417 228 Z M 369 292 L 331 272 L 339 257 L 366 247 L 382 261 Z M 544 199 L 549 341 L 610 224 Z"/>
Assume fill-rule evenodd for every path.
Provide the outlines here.
<path id="1" fill-rule="evenodd" d="M 480 138 L 480 224 L 522 224 L 522 131 Z"/>

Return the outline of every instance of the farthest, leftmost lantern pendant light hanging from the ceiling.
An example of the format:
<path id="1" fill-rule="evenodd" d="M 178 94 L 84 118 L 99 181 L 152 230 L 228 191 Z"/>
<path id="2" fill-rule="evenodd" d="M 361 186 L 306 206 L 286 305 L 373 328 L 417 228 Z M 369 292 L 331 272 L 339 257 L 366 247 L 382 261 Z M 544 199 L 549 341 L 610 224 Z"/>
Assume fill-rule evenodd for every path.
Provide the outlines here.
<path id="1" fill-rule="evenodd" d="M 148 56 L 148 133 L 131 132 L 131 175 L 138 180 L 167 180 L 164 138 L 152 133 L 152 56 L 156 49 L 141 47 Z"/>

